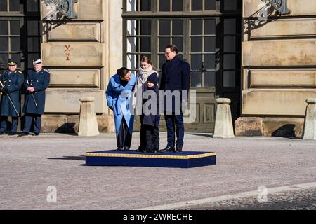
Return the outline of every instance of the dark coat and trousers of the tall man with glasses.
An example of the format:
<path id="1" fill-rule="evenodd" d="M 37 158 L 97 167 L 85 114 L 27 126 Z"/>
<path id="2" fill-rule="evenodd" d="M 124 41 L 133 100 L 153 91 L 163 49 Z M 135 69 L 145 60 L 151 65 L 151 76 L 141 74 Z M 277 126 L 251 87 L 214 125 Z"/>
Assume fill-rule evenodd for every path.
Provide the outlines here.
<path id="1" fill-rule="evenodd" d="M 173 57 L 171 61 L 167 61 L 162 66 L 162 80 L 160 90 L 170 90 L 171 92 L 178 90 L 189 90 L 190 89 L 190 65 L 184 62 L 178 55 Z M 180 92 L 181 93 L 181 92 Z M 181 106 L 181 104 L 179 105 Z M 180 108 L 176 106 L 176 102 L 172 102 L 172 108 L 166 109 L 166 98 L 165 98 L 165 114 L 167 126 L 167 141 L 168 145 L 166 148 L 174 148 L 175 146 L 175 132 L 177 135 L 176 148 L 180 152 L 183 147 L 184 138 L 184 125 L 183 125 L 183 113 L 176 113 L 180 111 Z M 168 112 L 168 113 L 167 113 Z M 175 131 L 176 125 L 176 131 Z"/>

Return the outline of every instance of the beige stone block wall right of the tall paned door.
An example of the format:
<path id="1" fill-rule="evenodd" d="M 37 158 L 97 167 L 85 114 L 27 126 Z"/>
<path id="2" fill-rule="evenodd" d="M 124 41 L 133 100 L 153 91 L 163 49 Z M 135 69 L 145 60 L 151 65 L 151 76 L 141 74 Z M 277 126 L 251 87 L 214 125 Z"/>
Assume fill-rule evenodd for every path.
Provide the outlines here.
<path id="1" fill-rule="evenodd" d="M 272 135 L 303 118 L 305 100 L 316 97 L 316 1 L 287 0 L 289 15 L 264 7 L 243 1 L 242 116 L 282 120 L 273 129 L 265 123 L 263 134 Z"/>

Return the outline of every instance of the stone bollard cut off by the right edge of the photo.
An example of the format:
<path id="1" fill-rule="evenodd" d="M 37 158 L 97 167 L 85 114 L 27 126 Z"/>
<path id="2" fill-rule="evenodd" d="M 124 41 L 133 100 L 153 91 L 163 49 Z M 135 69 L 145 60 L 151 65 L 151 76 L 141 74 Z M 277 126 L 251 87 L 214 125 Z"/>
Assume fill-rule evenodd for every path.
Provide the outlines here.
<path id="1" fill-rule="evenodd" d="M 308 106 L 305 114 L 303 139 L 316 140 L 316 99 L 308 98 L 306 103 Z"/>

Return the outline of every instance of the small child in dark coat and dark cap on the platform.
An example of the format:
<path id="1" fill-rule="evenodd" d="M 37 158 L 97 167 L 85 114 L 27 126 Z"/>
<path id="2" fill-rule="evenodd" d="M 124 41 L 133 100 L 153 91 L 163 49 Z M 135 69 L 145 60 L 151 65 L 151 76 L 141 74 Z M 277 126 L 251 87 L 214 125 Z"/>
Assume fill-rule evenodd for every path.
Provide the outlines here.
<path id="1" fill-rule="evenodd" d="M 143 115 L 140 123 L 145 132 L 146 148 L 144 152 L 158 153 L 159 151 L 159 87 L 157 73 L 152 73 L 144 83 Z M 154 109 L 156 107 L 156 109 Z M 146 110 L 147 109 L 147 110 Z"/>

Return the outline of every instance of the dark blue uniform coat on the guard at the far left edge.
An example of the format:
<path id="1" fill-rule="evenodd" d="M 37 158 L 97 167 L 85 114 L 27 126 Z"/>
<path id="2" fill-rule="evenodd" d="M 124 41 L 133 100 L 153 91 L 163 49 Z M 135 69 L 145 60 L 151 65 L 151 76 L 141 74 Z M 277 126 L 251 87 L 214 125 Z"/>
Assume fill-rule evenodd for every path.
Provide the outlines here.
<path id="1" fill-rule="evenodd" d="M 7 87 L 8 94 L 15 106 L 15 109 L 20 111 L 20 89 L 22 87 L 24 76 L 21 71 L 13 71 L 11 75 L 9 75 L 8 71 L 4 71 L 1 78 L 1 83 L 4 87 Z M 13 116 L 18 117 L 18 114 L 15 112 L 11 102 L 8 99 L 8 95 L 4 94 L 1 97 L 0 102 L 0 115 L 1 116 Z"/>

